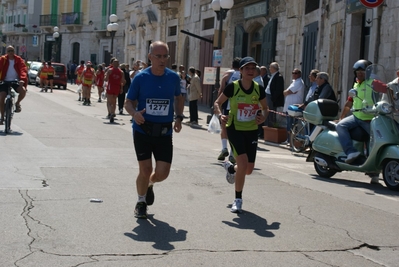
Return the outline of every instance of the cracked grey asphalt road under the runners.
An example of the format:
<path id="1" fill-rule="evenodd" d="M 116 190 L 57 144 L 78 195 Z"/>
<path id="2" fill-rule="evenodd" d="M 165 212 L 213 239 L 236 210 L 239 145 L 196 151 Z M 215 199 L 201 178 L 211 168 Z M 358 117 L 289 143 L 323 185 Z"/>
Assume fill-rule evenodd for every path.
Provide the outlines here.
<path id="1" fill-rule="evenodd" d="M 244 212 L 230 213 L 202 111 L 174 135 L 149 219 L 135 219 L 130 116 L 110 124 L 106 103 L 74 90 L 29 86 L 13 134 L 0 128 L 0 266 L 398 266 L 399 193 L 357 173 L 317 177 L 285 147 L 259 142 Z"/>

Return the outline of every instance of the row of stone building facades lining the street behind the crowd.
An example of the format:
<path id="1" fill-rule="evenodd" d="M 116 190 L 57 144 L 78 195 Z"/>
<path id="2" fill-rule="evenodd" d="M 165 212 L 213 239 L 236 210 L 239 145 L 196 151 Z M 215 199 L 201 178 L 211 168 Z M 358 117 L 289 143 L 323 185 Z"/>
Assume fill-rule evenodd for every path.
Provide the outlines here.
<path id="1" fill-rule="evenodd" d="M 41 8 L 37 11 L 39 2 Z M 162 40 L 170 48 L 169 66 L 175 63 L 203 71 L 212 66 L 217 47 L 214 36 L 220 20 L 212 10 L 212 0 L 1 3 L 3 43 L 22 47 L 25 42 L 28 57 L 30 51 L 36 54 L 27 40 L 37 36 L 40 59 L 108 63 L 113 43 L 113 56 L 131 65 L 138 59 L 148 61 L 149 45 Z M 29 38 L 23 36 L 24 27 L 17 27 L 25 23 L 18 15 L 24 12 L 26 28 L 32 34 Z M 111 14 L 118 16 L 114 38 L 107 31 Z M 252 56 L 265 66 L 277 61 L 286 87 L 294 68 L 302 70 L 306 84 L 311 69 L 326 71 L 342 106 L 354 80 L 352 66 L 358 59 L 384 65 L 388 78 L 394 78 L 399 66 L 397 14 L 396 0 L 385 0 L 373 9 L 365 8 L 359 0 L 235 0 L 222 20 L 222 67 L 229 68 L 234 57 Z M 54 26 L 58 26 L 58 38 L 53 38 Z M 204 85 L 203 91 L 200 102 L 211 105 L 213 87 Z"/>

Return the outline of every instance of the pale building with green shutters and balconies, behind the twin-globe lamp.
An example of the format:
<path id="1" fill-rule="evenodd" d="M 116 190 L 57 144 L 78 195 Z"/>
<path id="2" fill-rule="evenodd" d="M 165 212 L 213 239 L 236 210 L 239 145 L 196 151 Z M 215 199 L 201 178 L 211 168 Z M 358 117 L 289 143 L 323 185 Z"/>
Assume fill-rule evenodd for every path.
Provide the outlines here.
<path id="1" fill-rule="evenodd" d="M 42 60 L 65 64 L 90 60 L 98 64 L 109 63 L 112 56 L 124 58 L 125 3 L 117 0 L 43 0 L 40 15 Z M 119 28 L 114 37 L 107 31 L 111 14 L 118 16 Z M 54 37 L 57 29 L 54 27 L 58 28 L 57 38 Z"/>

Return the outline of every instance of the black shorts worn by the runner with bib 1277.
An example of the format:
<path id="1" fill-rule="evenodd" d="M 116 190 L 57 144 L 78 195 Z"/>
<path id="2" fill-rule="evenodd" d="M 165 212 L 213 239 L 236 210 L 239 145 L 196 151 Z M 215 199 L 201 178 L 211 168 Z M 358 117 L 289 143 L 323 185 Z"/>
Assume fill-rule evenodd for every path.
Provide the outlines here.
<path id="1" fill-rule="evenodd" d="M 138 161 L 151 159 L 154 154 L 155 161 L 172 163 L 172 135 L 154 137 L 133 131 L 133 143 Z"/>

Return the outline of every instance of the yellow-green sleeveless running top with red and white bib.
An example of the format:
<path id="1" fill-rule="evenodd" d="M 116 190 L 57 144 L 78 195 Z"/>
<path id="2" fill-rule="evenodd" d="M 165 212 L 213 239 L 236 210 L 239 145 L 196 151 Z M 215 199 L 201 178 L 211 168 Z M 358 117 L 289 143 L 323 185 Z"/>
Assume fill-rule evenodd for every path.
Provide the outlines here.
<path id="1" fill-rule="evenodd" d="M 239 131 L 253 131 L 258 129 L 256 115 L 261 110 L 259 105 L 259 84 L 253 82 L 254 88 L 250 94 L 245 93 L 238 81 L 233 82 L 234 94 L 230 100 L 229 120 L 226 127 L 234 125 Z"/>

